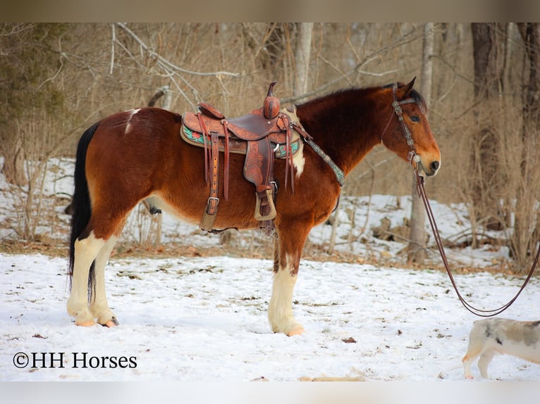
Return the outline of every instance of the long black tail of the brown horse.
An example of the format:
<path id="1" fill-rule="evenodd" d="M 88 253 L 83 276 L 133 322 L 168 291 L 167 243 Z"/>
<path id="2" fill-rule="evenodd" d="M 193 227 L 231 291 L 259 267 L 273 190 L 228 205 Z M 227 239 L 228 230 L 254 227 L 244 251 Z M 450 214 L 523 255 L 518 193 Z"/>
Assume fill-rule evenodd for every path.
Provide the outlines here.
<path id="1" fill-rule="evenodd" d="M 88 183 L 86 181 L 86 151 L 88 145 L 94 136 L 94 133 L 99 126 L 99 122 L 89 127 L 79 140 L 77 146 L 77 155 L 75 157 L 75 192 L 73 193 L 73 201 L 71 206 L 73 214 L 71 215 L 71 236 L 69 244 L 69 274 L 70 278 L 73 275 L 73 264 L 75 263 L 75 241 L 84 239 L 88 234 L 83 234 L 90 221 L 92 215 L 92 206 L 90 206 L 90 193 L 88 191 Z M 94 278 L 94 263 L 90 268 L 90 279 Z"/>

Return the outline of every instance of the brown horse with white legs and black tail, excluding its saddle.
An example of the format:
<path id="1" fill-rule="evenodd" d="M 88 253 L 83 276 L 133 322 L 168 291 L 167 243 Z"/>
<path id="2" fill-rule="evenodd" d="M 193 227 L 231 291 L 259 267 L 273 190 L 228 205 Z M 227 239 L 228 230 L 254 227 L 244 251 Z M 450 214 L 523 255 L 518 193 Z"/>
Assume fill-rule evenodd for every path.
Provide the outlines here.
<path id="1" fill-rule="evenodd" d="M 343 89 L 296 106 L 312 141 L 295 157 L 294 191 L 286 187 L 276 194 L 277 240 L 268 308 L 273 332 L 304 332 L 293 316 L 293 288 L 309 231 L 324 222 L 338 202 L 339 172 L 348 175 L 378 144 L 422 175 L 438 171 L 441 153 L 414 82 Z M 210 188 L 205 150 L 180 139 L 182 121 L 177 113 L 139 108 L 104 118 L 82 134 L 75 162 L 67 302 L 75 324 L 118 324 L 107 303 L 104 270 L 137 203 L 151 198 L 154 208 L 199 222 Z M 216 228 L 257 228 L 254 189 L 242 175 L 243 163 L 244 156 L 231 154 L 230 196 L 221 198 Z M 285 170 L 286 163 L 276 160 L 277 182 L 283 184 Z M 223 196 L 223 189 L 219 194 Z"/>

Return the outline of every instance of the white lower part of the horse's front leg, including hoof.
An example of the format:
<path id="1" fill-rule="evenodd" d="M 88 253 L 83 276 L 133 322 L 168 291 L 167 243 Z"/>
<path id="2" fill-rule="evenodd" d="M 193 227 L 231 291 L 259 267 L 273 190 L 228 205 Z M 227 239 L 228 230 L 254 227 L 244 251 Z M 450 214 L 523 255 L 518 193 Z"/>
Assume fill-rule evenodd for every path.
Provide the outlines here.
<path id="1" fill-rule="evenodd" d="M 274 273 L 272 284 L 272 297 L 268 308 L 268 320 L 273 332 L 283 332 L 287 335 L 302 334 L 304 327 L 293 316 L 293 289 L 296 284 L 296 275 L 290 272 L 293 266 L 287 257 L 286 267 L 280 267 Z"/>

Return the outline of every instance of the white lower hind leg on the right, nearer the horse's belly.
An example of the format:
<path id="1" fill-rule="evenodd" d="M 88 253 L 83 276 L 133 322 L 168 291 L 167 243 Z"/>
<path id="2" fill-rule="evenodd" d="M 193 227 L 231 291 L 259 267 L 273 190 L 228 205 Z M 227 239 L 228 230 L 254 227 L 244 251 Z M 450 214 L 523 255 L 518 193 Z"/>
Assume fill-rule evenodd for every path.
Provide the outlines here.
<path id="1" fill-rule="evenodd" d="M 111 236 L 96 257 L 96 293 L 94 300 L 90 303 L 90 310 L 92 315 L 97 318 L 97 322 L 109 326 L 117 325 L 118 321 L 116 320 L 114 313 L 109 309 L 109 303 L 107 303 L 105 293 L 105 266 L 107 265 L 107 261 L 109 260 L 109 256 L 111 255 L 111 251 L 113 250 L 116 241 L 118 241 L 118 237 Z M 107 324 L 108 322 L 111 323 Z"/>

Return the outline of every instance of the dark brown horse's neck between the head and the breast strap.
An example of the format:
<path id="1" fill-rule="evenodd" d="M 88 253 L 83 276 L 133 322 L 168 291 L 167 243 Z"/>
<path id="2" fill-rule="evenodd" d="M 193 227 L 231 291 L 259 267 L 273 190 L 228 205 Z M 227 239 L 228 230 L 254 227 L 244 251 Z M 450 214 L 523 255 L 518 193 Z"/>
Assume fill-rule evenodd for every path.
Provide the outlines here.
<path id="1" fill-rule="evenodd" d="M 386 122 L 375 121 L 373 117 L 379 114 L 369 111 L 375 111 L 375 108 L 374 102 L 364 103 L 362 111 L 337 103 L 332 108 L 324 109 L 298 106 L 297 115 L 315 143 L 348 174 L 380 143 L 382 127 Z"/>

